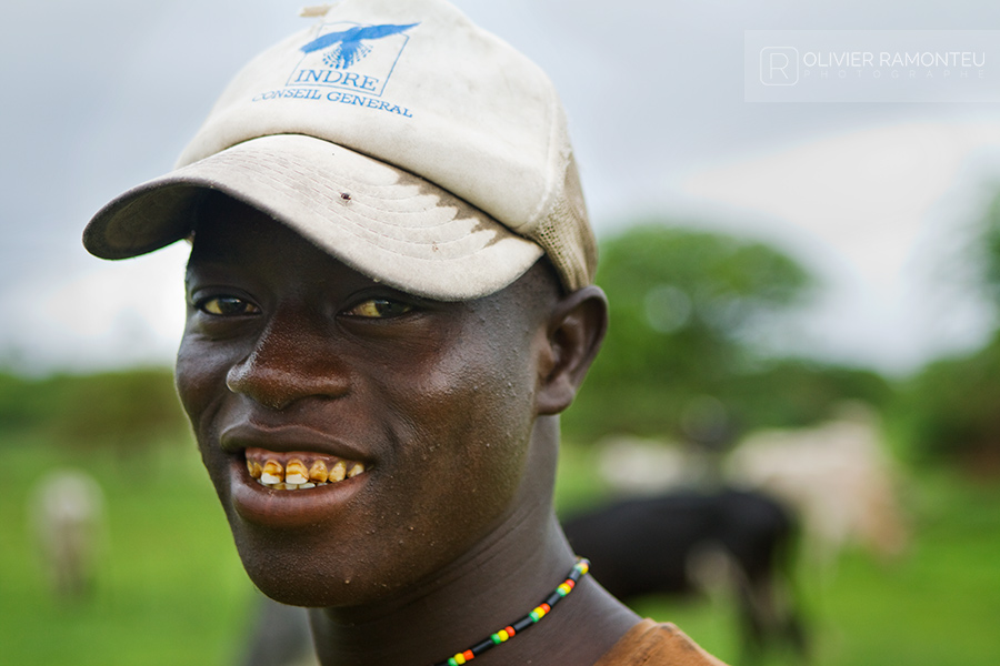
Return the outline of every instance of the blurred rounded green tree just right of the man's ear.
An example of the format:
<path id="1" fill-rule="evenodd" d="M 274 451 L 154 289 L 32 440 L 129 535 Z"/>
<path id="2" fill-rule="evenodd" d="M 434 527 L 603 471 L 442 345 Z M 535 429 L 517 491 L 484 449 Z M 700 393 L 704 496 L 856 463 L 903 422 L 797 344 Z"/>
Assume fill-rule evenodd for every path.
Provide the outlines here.
<path id="1" fill-rule="evenodd" d="M 768 317 L 804 302 L 813 280 L 763 243 L 646 224 L 601 245 L 597 282 L 611 303 L 604 349 L 567 432 L 677 434 L 684 411 L 713 396 L 742 415 L 737 377 L 753 374 L 752 335 Z"/>

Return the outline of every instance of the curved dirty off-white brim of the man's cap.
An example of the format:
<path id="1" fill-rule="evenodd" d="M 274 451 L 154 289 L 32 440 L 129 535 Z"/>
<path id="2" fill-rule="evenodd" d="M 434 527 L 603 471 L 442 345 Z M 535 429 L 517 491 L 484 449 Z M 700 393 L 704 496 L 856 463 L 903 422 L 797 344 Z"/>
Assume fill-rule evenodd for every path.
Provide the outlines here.
<path id="1" fill-rule="evenodd" d="M 268 213 L 372 279 L 436 300 L 491 294 L 543 254 L 419 176 L 300 134 L 252 139 L 126 192 L 93 216 L 83 245 L 126 259 L 187 238 L 210 190 Z"/>

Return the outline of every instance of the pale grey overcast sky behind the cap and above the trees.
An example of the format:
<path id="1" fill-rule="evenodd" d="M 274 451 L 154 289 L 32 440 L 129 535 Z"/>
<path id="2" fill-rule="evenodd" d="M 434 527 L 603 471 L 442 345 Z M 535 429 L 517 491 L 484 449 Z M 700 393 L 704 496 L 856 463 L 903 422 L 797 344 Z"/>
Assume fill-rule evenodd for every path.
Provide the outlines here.
<path id="1" fill-rule="evenodd" d="M 100 262 L 80 232 L 170 169 L 239 67 L 308 26 L 301 4 L 8 0 L 0 362 L 171 362 L 183 249 Z M 556 81 L 599 235 L 658 216 L 779 244 L 826 285 L 783 336 L 798 351 L 898 372 L 982 341 L 958 248 L 1000 180 L 1000 104 L 746 102 L 744 31 L 990 30 L 1000 4 L 457 4 Z M 1000 83 L 1000 57 L 987 70 Z"/>

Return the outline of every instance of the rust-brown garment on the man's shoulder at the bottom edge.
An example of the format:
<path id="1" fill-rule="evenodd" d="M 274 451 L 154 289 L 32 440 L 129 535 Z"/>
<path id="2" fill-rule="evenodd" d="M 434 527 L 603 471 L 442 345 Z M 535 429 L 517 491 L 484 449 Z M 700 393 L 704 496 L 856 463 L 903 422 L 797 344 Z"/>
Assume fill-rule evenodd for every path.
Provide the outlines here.
<path id="1" fill-rule="evenodd" d="M 643 619 L 593 666 L 726 666 L 670 623 Z"/>

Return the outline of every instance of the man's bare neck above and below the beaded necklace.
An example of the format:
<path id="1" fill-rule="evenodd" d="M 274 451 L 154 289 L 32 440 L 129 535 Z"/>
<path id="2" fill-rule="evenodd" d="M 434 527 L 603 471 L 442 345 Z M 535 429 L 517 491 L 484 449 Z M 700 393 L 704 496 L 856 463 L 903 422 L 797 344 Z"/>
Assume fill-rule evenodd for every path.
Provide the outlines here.
<path id="1" fill-rule="evenodd" d="M 546 433 L 536 435 L 537 442 Z M 529 466 L 554 475 L 556 448 L 554 442 L 533 446 Z M 474 548 L 407 593 L 364 607 L 313 609 L 321 664 L 429 666 L 528 614 L 576 562 L 556 519 L 551 488 L 551 481 L 526 483 L 517 508 Z M 541 622 L 477 657 L 476 664 L 592 664 L 636 622 L 634 614 L 586 576 Z"/>

